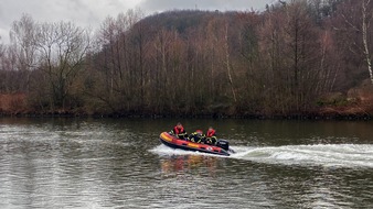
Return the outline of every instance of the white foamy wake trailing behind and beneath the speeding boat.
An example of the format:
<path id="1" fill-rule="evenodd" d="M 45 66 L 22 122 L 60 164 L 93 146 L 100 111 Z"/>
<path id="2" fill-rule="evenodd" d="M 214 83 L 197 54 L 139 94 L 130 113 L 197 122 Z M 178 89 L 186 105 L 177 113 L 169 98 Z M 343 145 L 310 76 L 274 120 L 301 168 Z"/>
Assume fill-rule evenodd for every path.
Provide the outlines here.
<path id="1" fill-rule="evenodd" d="M 372 144 L 232 146 L 232 148 L 236 153 L 228 157 L 256 163 L 324 167 L 373 167 Z M 211 154 L 205 153 L 174 150 L 166 145 L 159 145 L 151 152 L 160 155 L 211 156 Z"/>

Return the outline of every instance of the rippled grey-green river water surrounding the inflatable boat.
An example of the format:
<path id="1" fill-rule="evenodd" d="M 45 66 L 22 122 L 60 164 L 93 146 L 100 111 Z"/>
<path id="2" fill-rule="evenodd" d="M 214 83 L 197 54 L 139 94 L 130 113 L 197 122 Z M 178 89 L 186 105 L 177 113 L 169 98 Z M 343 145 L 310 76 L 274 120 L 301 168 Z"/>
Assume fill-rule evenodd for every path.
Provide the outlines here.
<path id="1" fill-rule="evenodd" d="M 236 154 L 159 134 L 213 125 Z M 373 122 L 0 119 L 0 208 L 373 208 Z"/>

